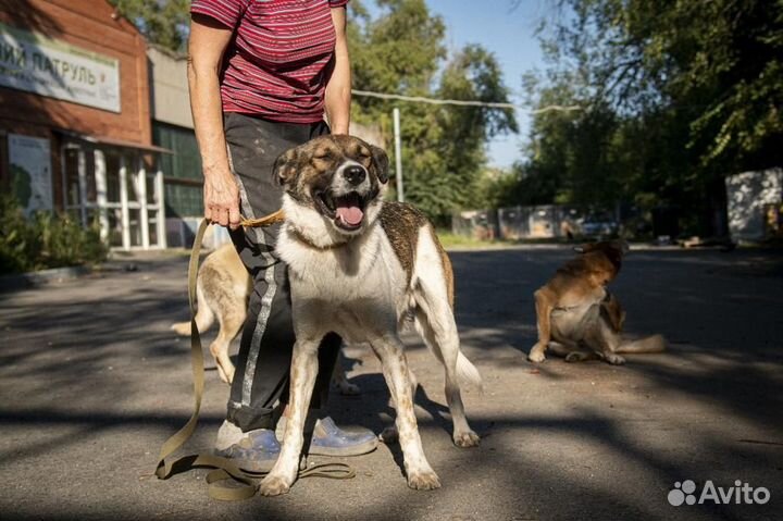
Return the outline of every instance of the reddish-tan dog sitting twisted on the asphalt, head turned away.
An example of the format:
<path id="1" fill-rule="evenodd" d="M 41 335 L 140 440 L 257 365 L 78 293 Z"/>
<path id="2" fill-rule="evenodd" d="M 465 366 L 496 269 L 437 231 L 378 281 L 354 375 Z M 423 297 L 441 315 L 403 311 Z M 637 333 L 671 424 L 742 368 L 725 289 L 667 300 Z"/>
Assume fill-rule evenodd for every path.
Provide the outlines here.
<path id="1" fill-rule="evenodd" d="M 581 255 L 535 293 L 538 343 L 530 361 L 543 362 L 547 348 L 569 362 L 598 358 L 612 364 L 625 363 L 620 352 L 666 350 L 661 335 L 638 340 L 622 336 L 625 312 L 606 285 L 617 276 L 627 249 L 624 240 L 577 247 Z"/>

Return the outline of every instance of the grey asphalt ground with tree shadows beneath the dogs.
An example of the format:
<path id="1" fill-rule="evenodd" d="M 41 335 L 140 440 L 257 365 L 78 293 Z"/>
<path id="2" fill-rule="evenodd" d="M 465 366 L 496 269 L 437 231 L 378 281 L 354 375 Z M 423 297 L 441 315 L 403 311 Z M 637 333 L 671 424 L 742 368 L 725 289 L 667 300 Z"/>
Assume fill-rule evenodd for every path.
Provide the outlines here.
<path id="1" fill-rule="evenodd" d="M 614 289 L 631 333 L 666 334 L 666 355 L 604 363 L 525 361 L 531 294 L 563 249 L 455 252 L 464 351 L 484 395 L 467 407 L 480 448 L 451 444 L 442 373 L 409 338 L 424 392 L 418 417 L 443 488 L 408 489 L 397 447 L 347 460 L 351 481 L 302 480 L 278 498 L 223 504 L 204 471 L 150 477 L 160 444 L 191 407 L 185 264 L 171 253 L 0 294 L 2 519 L 780 519 L 783 517 L 783 256 L 639 251 Z M 209 335 L 207 340 L 209 340 Z M 343 424 L 390 421 L 378 364 L 349 351 L 360 397 L 335 396 Z M 227 396 L 208 372 L 194 449 Z M 672 507 L 675 482 L 763 486 L 759 505 Z"/>

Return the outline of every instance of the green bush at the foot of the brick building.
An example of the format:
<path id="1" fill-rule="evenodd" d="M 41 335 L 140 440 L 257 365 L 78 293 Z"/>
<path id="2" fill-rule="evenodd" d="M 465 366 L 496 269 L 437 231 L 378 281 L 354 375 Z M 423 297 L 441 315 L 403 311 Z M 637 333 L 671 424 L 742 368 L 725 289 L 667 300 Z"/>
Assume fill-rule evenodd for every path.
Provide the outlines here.
<path id="1" fill-rule="evenodd" d="M 92 264 L 108 252 L 97 222 L 85 228 L 65 213 L 27 218 L 15 198 L 0 196 L 0 273 Z"/>

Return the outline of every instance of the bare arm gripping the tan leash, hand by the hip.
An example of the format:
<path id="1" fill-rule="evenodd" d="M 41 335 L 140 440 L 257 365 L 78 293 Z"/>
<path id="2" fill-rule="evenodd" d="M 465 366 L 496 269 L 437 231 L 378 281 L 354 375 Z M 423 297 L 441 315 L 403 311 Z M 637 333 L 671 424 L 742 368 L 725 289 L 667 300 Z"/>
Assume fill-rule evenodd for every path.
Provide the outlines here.
<path id="1" fill-rule="evenodd" d="M 222 226 L 239 226 L 239 188 L 228 165 L 220 69 L 233 30 L 201 14 L 194 14 L 188 41 L 188 85 L 196 140 L 201 152 L 204 219 Z"/>

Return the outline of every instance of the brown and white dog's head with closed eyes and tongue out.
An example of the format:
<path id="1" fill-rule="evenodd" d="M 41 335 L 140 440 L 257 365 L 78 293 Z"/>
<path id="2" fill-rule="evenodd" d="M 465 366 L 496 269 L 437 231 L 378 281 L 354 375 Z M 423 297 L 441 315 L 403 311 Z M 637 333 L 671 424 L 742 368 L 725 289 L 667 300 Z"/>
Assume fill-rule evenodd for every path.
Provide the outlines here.
<path id="1" fill-rule="evenodd" d="M 377 218 L 388 157 L 358 137 L 321 136 L 277 158 L 274 177 L 287 196 L 286 219 L 300 231 L 350 236 Z"/>

